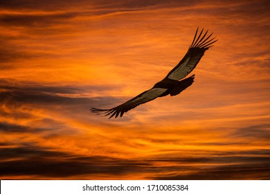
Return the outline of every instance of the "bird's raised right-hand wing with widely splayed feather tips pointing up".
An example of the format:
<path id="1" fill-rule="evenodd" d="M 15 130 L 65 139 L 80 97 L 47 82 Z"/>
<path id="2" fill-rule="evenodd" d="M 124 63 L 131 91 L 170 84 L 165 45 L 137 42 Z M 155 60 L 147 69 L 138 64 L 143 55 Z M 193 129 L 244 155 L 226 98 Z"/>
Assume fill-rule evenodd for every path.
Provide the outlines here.
<path id="1" fill-rule="evenodd" d="M 185 78 L 188 73 L 190 73 L 197 64 L 199 63 L 199 60 L 201 60 L 201 57 L 204 55 L 204 52 L 208 50 L 208 48 L 212 47 L 214 42 L 217 42 L 217 39 L 212 38 L 210 39 L 210 35 L 206 37 L 208 30 L 204 35 L 202 35 L 204 28 L 201 30 L 201 33 L 197 36 L 198 29 L 196 30 L 195 37 L 192 41 L 192 44 L 188 48 L 188 52 L 186 55 L 183 57 L 183 59 L 177 64 L 170 73 L 166 76 L 166 78 L 170 78 L 172 80 L 181 80 Z M 201 37 L 202 35 L 202 37 Z"/>

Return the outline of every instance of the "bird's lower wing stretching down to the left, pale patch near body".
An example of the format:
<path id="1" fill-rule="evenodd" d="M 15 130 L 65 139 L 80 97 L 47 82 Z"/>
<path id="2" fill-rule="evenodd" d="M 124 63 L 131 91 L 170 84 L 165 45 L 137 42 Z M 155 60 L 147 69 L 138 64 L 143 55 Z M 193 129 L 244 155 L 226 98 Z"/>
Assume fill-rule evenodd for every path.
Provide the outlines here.
<path id="1" fill-rule="evenodd" d="M 134 109 L 138 105 L 147 103 L 155 98 L 161 96 L 167 89 L 165 88 L 152 88 L 150 90 L 144 91 L 142 94 L 139 94 L 135 98 L 128 100 L 127 102 L 111 109 L 96 109 L 91 108 L 91 112 L 96 114 L 105 114 L 105 116 L 111 115 L 109 118 L 115 116 L 115 118 L 120 114 L 120 117 L 123 116 L 125 112 L 128 112 L 130 109 Z"/>

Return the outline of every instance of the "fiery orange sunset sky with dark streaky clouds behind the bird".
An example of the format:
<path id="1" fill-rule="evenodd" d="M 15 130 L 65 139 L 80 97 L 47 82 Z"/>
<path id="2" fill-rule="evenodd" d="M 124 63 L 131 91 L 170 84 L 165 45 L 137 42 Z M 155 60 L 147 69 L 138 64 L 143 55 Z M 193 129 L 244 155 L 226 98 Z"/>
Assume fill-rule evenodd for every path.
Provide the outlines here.
<path id="1" fill-rule="evenodd" d="M 269 1 L 0 3 L 0 179 L 270 179 Z M 122 118 L 199 27 L 195 82 Z"/>

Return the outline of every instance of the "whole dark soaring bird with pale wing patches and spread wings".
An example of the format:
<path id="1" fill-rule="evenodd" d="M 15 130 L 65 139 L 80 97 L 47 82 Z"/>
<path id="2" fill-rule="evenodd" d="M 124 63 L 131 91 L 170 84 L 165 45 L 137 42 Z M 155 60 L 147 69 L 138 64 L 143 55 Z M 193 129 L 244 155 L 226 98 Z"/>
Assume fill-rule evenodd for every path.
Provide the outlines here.
<path id="1" fill-rule="evenodd" d="M 190 87 L 192 82 L 194 82 L 195 75 L 186 79 L 183 78 L 188 76 L 188 74 L 195 69 L 199 60 L 201 60 L 204 55 L 204 52 L 208 50 L 208 48 L 212 47 L 214 42 L 217 42 L 215 37 L 210 38 L 213 33 L 207 35 L 208 30 L 206 30 L 206 33 L 203 33 L 203 28 L 198 35 L 198 30 L 199 28 L 197 28 L 192 44 L 188 47 L 188 52 L 183 59 L 163 80 L 157 82 L 154 87 L 147 91 L 143 91 L 143 93 L 121 105 L 118 105 L 117 107 L 113 107 L 111 109 L 97 109 L 92 107 L 90 109 L 91 112 L 96 114 L 105 114 L 105 116 L 109 116 L 109 118 L 113 116 L 117 118 L 119 115 L 122 117 L 125 112 L 128 112 L 130 109 L 134 109 L 138 105 L 147 103 L 158 97 L 167 96 L 168 94 L 170 94 L 170 96 L 176 96 L 177 94 L 180 94 L 181 91 Z"/>

